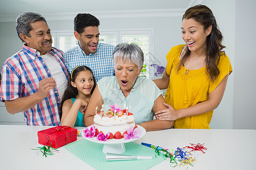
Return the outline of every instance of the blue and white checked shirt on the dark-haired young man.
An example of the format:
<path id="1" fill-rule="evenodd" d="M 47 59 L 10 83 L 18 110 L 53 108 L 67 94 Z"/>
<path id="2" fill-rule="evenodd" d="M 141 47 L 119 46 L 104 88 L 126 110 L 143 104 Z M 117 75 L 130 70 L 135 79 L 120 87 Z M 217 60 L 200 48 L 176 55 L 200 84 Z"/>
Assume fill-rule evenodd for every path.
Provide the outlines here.
<path id="1" fill-rule="evenodd" d="M 65 52 L 64 58 L 69 74 L 71 74 L 76 66 L 85 65 L 92 69 L 96 82 L 105 76 L 113 76 L 114 63 L 112 60 L 112 53 L 114 48 L 113 45 L 99 42 L 97 52 L 90 53 L 88 56 L 79 45 L 68 50 Z"/>

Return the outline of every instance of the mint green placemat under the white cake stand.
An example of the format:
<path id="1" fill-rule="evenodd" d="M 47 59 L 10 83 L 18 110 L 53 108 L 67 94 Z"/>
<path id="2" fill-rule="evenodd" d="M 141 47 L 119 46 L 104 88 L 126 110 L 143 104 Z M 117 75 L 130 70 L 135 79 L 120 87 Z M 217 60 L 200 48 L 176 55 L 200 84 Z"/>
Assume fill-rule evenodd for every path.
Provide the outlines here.
<path id="1" fill-rule="evenodd" d="M 106 155 L 102 152 L 103 144 L 87 141 L 83 139 L 69 143 L 65 148 L 76 155 L 79 159 L 89 164 L 95 169 L 148 169 L 160 162 L 163 162 L 162 156 L 155 157 L 152 148 L 139 145 L 134 142 L 125 143 L 126 151 L 123 155 L 130 156 L 152 156 L 148 160 L 125 160 L 106 162 Z"/>

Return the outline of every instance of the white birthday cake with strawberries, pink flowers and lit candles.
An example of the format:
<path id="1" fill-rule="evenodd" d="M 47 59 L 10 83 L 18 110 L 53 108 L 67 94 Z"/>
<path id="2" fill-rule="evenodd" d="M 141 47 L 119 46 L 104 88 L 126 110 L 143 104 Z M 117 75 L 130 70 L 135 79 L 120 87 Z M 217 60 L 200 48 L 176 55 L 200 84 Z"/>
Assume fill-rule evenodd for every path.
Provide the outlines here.
<path id="1" fill-rule="evenodd" d="M 119 108 L 118 105 L 111 105 L 110 108 L 107 112 L 102 109 L 96 112 L 94 124 L 85 128 L 83 132 L 85 137 L 97 137 L 100 141 L 141 137 L 141 130 L 135 124 L 133 113 L 128 109 Z"/>

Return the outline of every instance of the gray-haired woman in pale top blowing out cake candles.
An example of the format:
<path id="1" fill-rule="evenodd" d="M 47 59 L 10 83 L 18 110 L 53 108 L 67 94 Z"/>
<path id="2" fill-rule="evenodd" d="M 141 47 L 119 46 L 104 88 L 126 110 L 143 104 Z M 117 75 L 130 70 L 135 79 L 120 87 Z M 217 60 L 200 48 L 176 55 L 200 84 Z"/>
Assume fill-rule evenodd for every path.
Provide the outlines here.
<path id="1" fill-rule="evenodd" d="M 90 99 L 84 114 L 84 124 L 93 124 L 95 109 L 108 111 L 109 105 L 126 105 L 133 113 L 135 123 L 146 131 L 171 128 L 173 121 L 153 120 L 155 112 L 167 109 L 159 88 L 152 82 L 139 76 L 144 54 L 136 44 L 119 44 L 112 54 L 115 76 L 102 78 Z"/>

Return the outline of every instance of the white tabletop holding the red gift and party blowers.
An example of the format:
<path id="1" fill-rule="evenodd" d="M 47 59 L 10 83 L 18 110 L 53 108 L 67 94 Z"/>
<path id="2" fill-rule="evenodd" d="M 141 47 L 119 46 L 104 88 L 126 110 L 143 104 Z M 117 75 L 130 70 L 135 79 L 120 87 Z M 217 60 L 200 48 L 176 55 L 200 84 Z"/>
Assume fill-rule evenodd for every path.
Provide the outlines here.
<path id="1" fill-rule="evenodd" d="M 65 147 L 58 148 L 59 152 L 47 158 L 40 151 L 31 150 L 41 146 L 37 132 L 48 128 L 51 127 L 0 125 L 0 169 L 93 169 Z M 77 138 L 81 139 L 84 138 Z M 198 154 L 195 166 L 188 169 L 256 169 L 255 141 L 255 130 L 168 129 L 147 132 L 135 143 L 145 142 L 173 149 L 189 146 L 189 143 L 205 143 L 206 154 Z M 171 168 L 170 163 L 164 160 L 151 169 L 186 168 Z"/>

